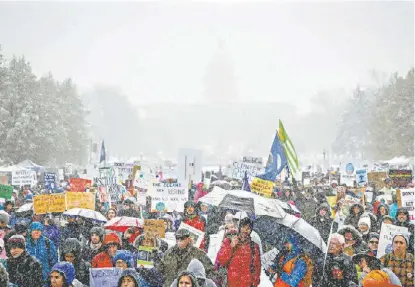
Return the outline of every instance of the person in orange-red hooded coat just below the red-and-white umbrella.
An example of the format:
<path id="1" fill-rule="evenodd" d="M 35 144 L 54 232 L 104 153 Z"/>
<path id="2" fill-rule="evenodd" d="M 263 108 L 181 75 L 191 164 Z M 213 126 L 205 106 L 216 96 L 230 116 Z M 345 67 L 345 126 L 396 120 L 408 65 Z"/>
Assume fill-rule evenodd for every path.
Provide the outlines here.
<path id="1" fill-rule="evenodd" d="M 92 259 L 92 268 L 111 268 L 112 258 L 115 256 L 117 250 L 121 249 L 121 241 L 117 234 L 109 233 L 104 236 L 102 242 L 104 251 L 98 253 Z"/>

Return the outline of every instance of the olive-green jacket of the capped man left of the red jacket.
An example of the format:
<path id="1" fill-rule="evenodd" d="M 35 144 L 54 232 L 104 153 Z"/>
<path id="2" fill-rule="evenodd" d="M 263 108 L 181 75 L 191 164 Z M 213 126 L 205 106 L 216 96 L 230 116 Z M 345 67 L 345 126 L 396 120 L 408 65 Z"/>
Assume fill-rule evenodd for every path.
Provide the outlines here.
<path id="1" fill-rule="evenodd" d="M 180 250 L 177 245 L 166 251 L 161 261 L 156 264 L 157 270 L 164 275 L 164 287 L 170 287 L 181 271 L 185 271 L 192 259 L 199 260 L 206 270 L 206 277 L 212 278 L 214 266 L 203 250 L 194 246 Z"/>

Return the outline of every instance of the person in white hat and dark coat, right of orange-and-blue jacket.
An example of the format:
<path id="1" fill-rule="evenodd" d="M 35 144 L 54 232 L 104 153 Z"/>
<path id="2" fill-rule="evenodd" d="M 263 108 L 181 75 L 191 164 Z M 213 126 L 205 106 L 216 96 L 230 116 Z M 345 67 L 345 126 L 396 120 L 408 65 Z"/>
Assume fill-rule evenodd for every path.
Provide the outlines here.
<path id="1" fill-rule="evenodd" d="M 343 287 L 357 285 L 357 271 L 351 257 L 344 250 L 345 239 L 339 233 L 330 236 L 322 286 Z"/>

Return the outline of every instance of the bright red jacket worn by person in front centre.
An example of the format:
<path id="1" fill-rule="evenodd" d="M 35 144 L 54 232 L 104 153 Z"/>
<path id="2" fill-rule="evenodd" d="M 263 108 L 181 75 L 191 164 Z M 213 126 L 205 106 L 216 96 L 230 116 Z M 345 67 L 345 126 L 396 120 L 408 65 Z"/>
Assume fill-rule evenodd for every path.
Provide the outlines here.
<path id="1" fill-rule="evenodd" d="M 229 238 L 223 241 L 216 260 L 221 266 L 228 266 L 228 287 L 259 286 L 261 279 L 261 259 L 258 244 L 255 243 L 254 273 L 251 274 L 252 251 L 248 241 L 232 250 Z"/>

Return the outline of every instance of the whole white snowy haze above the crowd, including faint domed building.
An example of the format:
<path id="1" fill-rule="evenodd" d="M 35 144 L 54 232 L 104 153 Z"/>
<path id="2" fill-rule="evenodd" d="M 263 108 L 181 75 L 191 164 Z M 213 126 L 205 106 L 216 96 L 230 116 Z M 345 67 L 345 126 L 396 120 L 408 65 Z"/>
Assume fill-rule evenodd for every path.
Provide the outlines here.
<path id="1" fill-rule="evenodd" d="M 414 65 L 413 2 L 0 3 L 0 44 L 78 87 L 113 156 L 329 153 L 356 87 Z M 253 104 L 255 103 L 255 104 Z M 346 105 L 344 105 L 345 107 Z M 413 133 L 412 133 L 413 134 Z"/>

